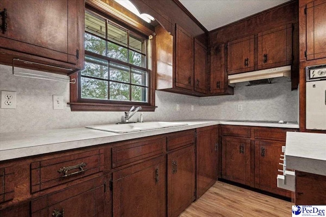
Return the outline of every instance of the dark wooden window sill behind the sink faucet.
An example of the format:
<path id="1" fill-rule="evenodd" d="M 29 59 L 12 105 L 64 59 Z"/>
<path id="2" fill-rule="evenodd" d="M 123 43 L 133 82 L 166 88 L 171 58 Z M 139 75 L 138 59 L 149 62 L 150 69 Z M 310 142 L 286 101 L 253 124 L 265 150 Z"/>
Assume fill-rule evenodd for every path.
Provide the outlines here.
<path id="1" fill-rule="evenodd" d="M 71 111 L 129 111 L 132 105 L 122 104 L 105 104 L 105 103 L 68 103 Z M 156 106 L 134 105 L 141 106 L 140 111 L 155 111 Z"/>

